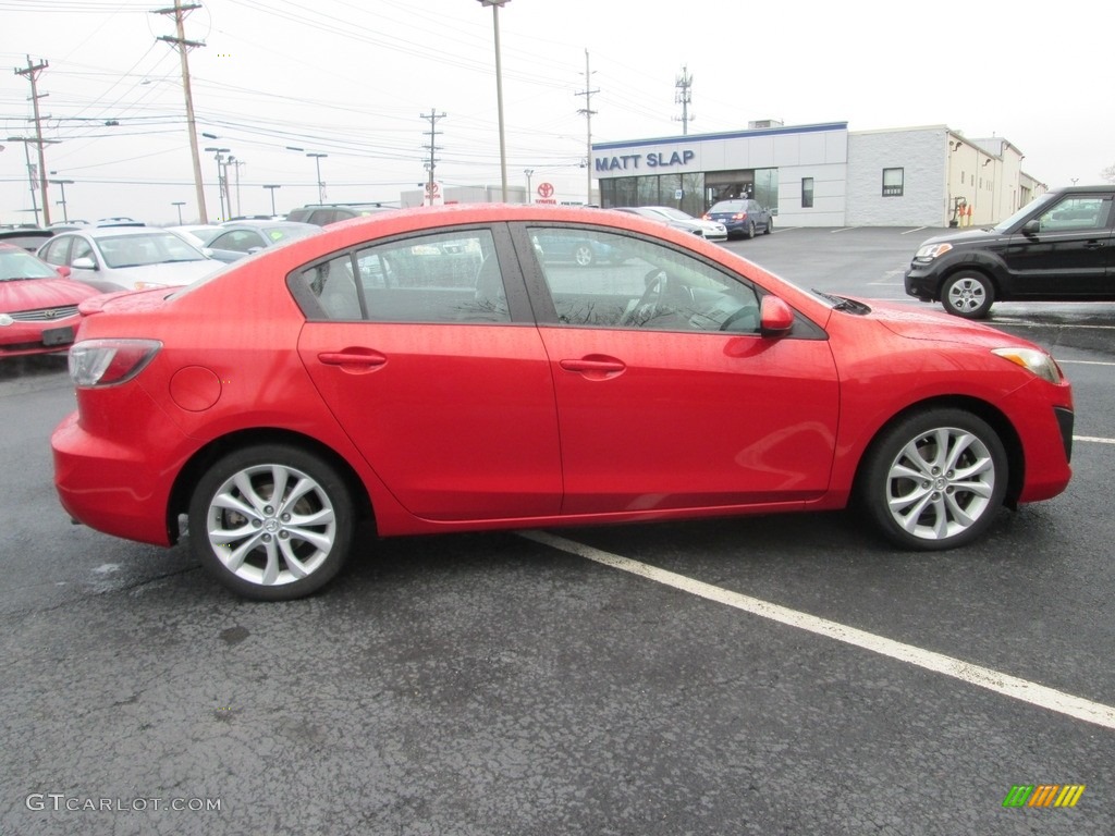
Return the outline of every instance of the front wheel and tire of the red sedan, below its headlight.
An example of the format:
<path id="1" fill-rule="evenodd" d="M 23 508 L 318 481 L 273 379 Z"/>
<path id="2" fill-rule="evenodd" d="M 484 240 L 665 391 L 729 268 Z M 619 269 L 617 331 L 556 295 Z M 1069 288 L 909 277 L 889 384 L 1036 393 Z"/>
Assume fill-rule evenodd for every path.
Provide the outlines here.
<path id="1" fill-rule="evenodd" d="M 857 499 L 892 543 L 954 548 L 991 525 L 1008 469 L 1002 441 L 985 420 L 962 409 L 928 409 L 875 439 L 862 465 Z"/>

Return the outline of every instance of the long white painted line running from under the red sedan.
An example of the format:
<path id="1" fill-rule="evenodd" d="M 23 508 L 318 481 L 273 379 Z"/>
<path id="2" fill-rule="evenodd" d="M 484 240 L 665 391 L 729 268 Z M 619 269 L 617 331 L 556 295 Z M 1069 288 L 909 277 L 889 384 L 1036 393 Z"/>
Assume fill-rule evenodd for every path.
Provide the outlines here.
<path id="1" fill-rule="evenodd" d="M 1115 729 L 1115 708 L 1112 708 L 1111 706 L 1092 702 L 1090 700 L 1074 697 L 1070 693 L 1057 691 L 1036 682 L 1029 682 L 1025 679 L 1019 679 L 1018 677 L 1000 673 L 999 671 L 990 668 L 970 664 L 960 659 L 953 659 L 952 657 L 947 657 L 931 650 L 922 650 L 921 648 L 915 648 L 911 644 L 903 644 L 902 642 L 885 639 L 881 635 L 875 635 L 874 633 L 845 626 L 844 624 L 840 624 L 835 621 L 820 619 L 815 615 L 809 615 L 808 613 L 780 606 L 779 604 L 772 604 L 768 601 L 762 601 L 760 599 L 750 597 L 749 595 L 741 595 L 737 592 L 729 592 L 728 590 L 720 589 L 719 586 L 696 581 L 691 577 L 686 577 L 685 575 L 668 572 L 656 566 L 650 566 L 646 563 L 639 563 L 638 561 L 632 561 L 627 557 L 620 557 L 619 555 L 610 554 L 609 552 L 602 552 L 599 548 L 593 548 L 582 543 L 575 543 L 571 539 L 565 539 L 564 537 L 558 537 L 552 534 L 547 534 L 546 532 L 521 532 L 520 534 L 526 539 L 541 543 L 542 545 L 550 546 L 551 548 L 558 548 L 562 552 L 568 552 L 569 554 L 575 554 L 604 566 L 611 566 L 612 568 L 618 568 L 623 572 L 630 572 L 633 575 L 639 575 L 640 577 L 646 577 L 649 581 L 672 586 L 676 590 L 688 592 L 691 595 L 698 595 L 699 597 L 707 599 L 708 601 L 715 601 L 727 606 L 733 606 L 737 610 L 743 610 L 744 612 L 758 615 L 759 618 L 769 619 L 770 621 L 776 621 L 780 624 L 787 624 L 801 630 L 807 630 L 811 633 L 824 635 L 828 639 L 834 639 L 836 641 L 844 642 L 845 644 L 851 644 L 853 647 L 871 651 L 872 653 L 890 657 L 891 659 L 896 659 L 900 662 L 914 664 L 935 673 L 943 673 L 947 677 L 952 677 L 953 679 L 959 679 L 962 682 L 986 688 L 989 691 L 995 691 L 996 693 L 1001 693 L 1005 697 L 1028 702 L 1031 706 L 1038 706 L 1068 717 L 1075 717 L 1077 720 L 1084 720 L 1085 722 L 1095 723 L 1096 726 Z"/>

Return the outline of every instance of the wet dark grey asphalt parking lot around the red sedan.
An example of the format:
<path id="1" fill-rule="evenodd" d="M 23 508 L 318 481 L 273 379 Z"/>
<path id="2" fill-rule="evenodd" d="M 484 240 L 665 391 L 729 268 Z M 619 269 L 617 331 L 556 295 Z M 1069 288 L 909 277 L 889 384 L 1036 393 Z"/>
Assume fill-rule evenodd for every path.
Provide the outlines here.
<path id="1" fill-rule="evenodd" d="M 726 246 L 918 305 L 933 232 Z M 1074 479 L 971 547 L 844 513 L 369 539 L 280 604 L 71 526 L 65 359 L 0 369 L 0 833 L 1115 833 L 1115 304 L 990 324 L 1073 380 Z M 1031 785 L 1084 790 L 1005 806 Z"/>

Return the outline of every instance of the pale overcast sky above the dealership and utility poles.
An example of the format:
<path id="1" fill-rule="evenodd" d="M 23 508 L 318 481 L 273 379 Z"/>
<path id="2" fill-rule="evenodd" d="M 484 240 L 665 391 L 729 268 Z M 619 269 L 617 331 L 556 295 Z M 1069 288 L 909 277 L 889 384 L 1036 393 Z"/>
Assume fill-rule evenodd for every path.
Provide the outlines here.
<path id="1" fill-rule="evenodd" d="M 0 222 L 32 220 L 25 146 L 39 76 L 52 178 L 70 217 L 196 217 L 173 0 L 0 0 Z M 477 0 L 205 0 L 186 18 L 194 107 L 206 146 L 240 159 L 241 213 L 317 200 L 398 201 L 426 178 L 500 184 L 493 12 Z M 870 130 L 947 125 L 1001 136 L 1050 187 L 1115 165 L 1105 4 L 507 0 L 500 11 L 511 185 L 585 197 L 591 96 L 598 143 L 682 133 L 676 81 L 692 76 L 690 134 L 756 119 Z M 585 51 L 591 77 L 585 79 Z M 106 126 L 107 120 L 117 126 Z M 303 152 L 288 150 L 288 146 Z M 35 148 L 31 146 L 32 158 Z M 219 214 L 216 162 L 202 155 Z M 236 174 L 231 174 L 236 206 Z M 61 195 L 51 187 L 51 220 Z"/>

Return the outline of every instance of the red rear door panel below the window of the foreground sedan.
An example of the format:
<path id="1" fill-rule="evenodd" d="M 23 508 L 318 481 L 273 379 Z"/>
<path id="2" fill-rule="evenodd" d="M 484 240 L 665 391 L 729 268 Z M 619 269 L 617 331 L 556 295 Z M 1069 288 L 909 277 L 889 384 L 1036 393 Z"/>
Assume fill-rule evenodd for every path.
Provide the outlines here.
<path id="1" fill-rule="evenodd" d="M 299 353 L 365 459 L 413 514 L 558 513 L 553 381 L 535 328 L 308 322 Z"/>

